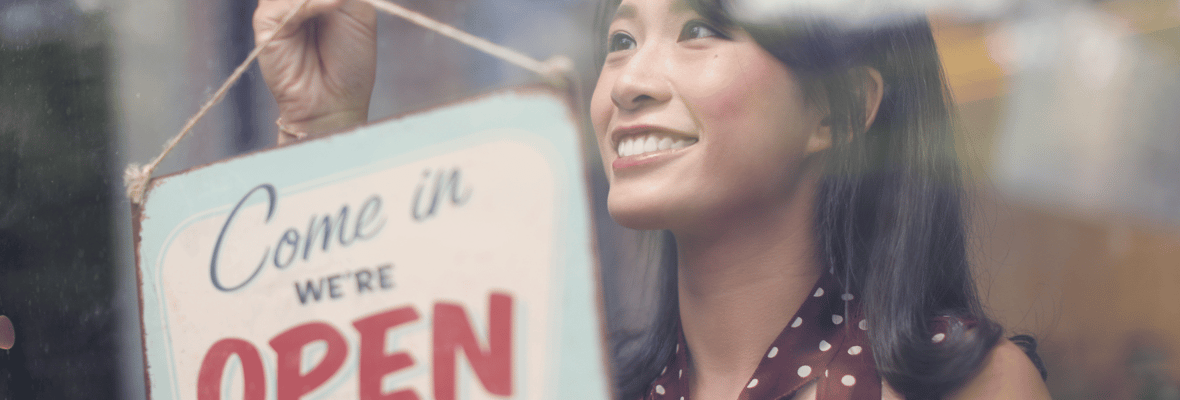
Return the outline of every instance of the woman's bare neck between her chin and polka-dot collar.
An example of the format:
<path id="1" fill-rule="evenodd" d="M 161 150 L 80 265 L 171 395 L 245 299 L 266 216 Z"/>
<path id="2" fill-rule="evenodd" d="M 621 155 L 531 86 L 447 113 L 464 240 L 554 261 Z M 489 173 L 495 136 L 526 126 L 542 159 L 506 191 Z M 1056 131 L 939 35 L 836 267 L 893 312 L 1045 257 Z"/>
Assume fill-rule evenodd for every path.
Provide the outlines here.
<path id="1" fill-rule="evenodd" d="M 676 232 L 680 317 L 695 399 L 735 399 L 819 280 L 815 184 L 769 211 Z M 801 192 L 801 194 L 800 194 Z"/>

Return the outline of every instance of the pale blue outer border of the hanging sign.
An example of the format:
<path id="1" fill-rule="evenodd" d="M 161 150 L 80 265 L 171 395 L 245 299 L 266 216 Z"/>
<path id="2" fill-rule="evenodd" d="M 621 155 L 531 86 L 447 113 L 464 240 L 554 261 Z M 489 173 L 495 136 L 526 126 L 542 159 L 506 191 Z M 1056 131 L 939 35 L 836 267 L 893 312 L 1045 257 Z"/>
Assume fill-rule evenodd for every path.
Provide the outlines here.
<path id="1" fill-rule="evenodd" d="M 555 227 L 555 243 L 559 245 L 553 249 L 553 265 L 558 268 L 551 293 L 553 304 L 559 307 L 552 308 L 550 317 L 559 321 L 553 342 L 560 345 L 550 354 L 549 365 L 555 366 L 557 379 L 549 383 L 545 398 L 609 399 L 588 175 L 573 116 L 563 96 L 546 88 L 497 92 L 153 179 L 145 204 L 136 210 L 140 317 L 151 396 L 178 395 L 169 360 L 171 346 L 164 334 L 168 327 L 158 275 L 160 257 L 173 235 L 204 217 L 228 214 L 243 192 L 260 183 L 270 183 L 280 194 L 289 195 L 510 139 L 540 153 L 556 177 L 555 219 L 559 225 Z M 496 130 L 499 133 L 477 133 Z M 571 315 L 598 317 L 564 317 Z M 268 395 L 273 394 L 268 389 Z"/>

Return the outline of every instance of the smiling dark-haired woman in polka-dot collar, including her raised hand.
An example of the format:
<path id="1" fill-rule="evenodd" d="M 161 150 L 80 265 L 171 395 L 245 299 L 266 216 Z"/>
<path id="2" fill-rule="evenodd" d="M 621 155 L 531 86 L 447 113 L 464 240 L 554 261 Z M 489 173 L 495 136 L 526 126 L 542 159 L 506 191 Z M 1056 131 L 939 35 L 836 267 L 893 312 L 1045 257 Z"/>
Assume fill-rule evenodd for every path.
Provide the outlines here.
<path id="1" fill-rule="evenodd" d="M 260 1 L 257 37 L 293 4 Z M 974 290 L 924 21 L 857 33 L 743 26 L 708 1 L 604 9 L 590 114 L 608 205 L 670 236 L 656 327 L 621 346 L 638 349 L 616 362 L 622 398 L 1048 398 Z M 374 20 L 313 0 L 277 33 L 260 64 L 281 131 L 366 122 Z"/>

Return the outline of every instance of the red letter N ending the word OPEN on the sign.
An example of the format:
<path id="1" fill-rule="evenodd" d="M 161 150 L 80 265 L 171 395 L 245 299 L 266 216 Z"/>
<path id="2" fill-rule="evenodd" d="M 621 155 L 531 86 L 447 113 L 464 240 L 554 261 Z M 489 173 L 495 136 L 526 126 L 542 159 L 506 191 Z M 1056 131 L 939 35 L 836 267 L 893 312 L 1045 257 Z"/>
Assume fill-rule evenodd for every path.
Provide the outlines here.
<path id="1" fill-rule="evenodd" d="M 512 394 L 512 297 L 493 293 L 489 303 L 487 350 L 479 347 L 463 306 L 434 304 L 435 400 L 455 398 L 457 348 L 463 348 L 489 393 Z"/>

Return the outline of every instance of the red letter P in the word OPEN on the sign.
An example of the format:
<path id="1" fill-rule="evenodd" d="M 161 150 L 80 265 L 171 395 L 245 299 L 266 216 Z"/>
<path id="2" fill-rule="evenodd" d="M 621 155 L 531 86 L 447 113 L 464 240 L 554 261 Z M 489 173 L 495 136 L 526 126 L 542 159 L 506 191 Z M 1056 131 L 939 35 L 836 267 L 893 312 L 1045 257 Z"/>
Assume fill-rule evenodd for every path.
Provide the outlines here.
<path id="1" fill-rule="evenodd" d="M 303 346 L 317 340 L 327 342 L 327 354 L 307 375 L 301 375 Z M 270 340 L 270 347 L 278 355 L 276 366 L 278 400 L 299 400 L 303 394 L 320 387 L 340 369 L 345 363 L 345 356 L 348 355 L 345 336 L 323 322 L 308 322 L 287 329 Z"/>

